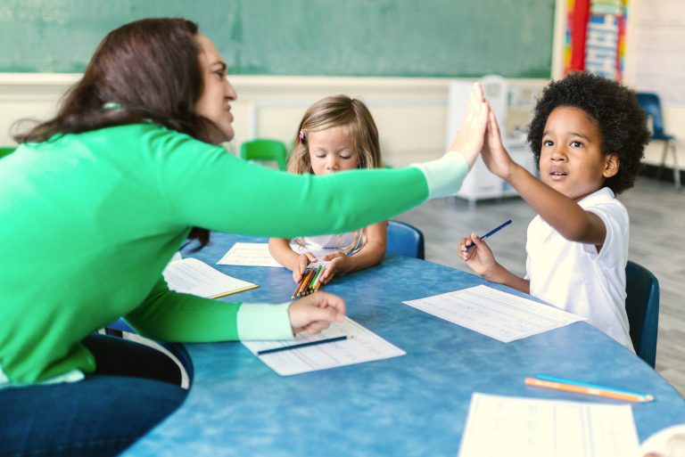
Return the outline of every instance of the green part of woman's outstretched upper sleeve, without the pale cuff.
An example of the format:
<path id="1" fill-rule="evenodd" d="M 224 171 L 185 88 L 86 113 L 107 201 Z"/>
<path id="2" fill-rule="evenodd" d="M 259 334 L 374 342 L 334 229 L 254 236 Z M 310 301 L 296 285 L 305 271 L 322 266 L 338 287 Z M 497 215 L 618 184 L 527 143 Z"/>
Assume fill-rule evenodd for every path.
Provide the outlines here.
<path id="1" fill-rule="evenodd" d="M 174 219 L 219 232 L 283 238 L 349 232 L 429 196 L 417 167 L 293 175 L 186 135 L 160 135 L 155 143 L 158 182 Z"/>

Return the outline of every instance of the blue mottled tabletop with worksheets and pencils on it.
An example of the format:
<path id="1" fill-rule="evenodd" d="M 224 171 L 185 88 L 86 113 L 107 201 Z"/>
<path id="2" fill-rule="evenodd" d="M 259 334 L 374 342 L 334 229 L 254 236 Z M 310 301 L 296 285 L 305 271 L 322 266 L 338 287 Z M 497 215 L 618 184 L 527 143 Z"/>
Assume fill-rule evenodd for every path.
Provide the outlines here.
<path id="1" fill-rule="evenodd" d="M 213 233 L 210 247 L 194 255 L 260 284 L 225 299 L 287 301 L 294 287 L 284 268 L 214 265 L 235 241 L 263 240 Z M 524 386 L 538 373 L 654 395 L 632 408 L 640 441 L 685 422 L 685 400 L 585 322 L 504 344 L 402 304 L 483 283 L 398 256 L 335 278 L 325 289 L 346 298 L 348 315 L 407 351 L 379 362 L 281 377 L 240 343 L 186 345 L 194 363 L 186 403 L 124 455 L 454 457 L 473 392 L 620 403 Z"/>

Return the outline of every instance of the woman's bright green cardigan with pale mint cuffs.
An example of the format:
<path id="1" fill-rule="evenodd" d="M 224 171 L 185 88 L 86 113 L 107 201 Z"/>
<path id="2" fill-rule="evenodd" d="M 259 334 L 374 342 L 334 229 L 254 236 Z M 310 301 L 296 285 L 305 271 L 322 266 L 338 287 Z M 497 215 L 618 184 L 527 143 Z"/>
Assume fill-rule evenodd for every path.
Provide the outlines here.
<path id="1" fill-rule="evenodd" d="M 123 316 L 167 341 L 292 338 L 287 306 L 169 291 L 193 226 L 292 238 L 342 233 L 456 192 L 466 160 L 292 175 L 154 124 L 23 144 L 0 160 L 0 385 L 79 379 L 80 343 Z"/>

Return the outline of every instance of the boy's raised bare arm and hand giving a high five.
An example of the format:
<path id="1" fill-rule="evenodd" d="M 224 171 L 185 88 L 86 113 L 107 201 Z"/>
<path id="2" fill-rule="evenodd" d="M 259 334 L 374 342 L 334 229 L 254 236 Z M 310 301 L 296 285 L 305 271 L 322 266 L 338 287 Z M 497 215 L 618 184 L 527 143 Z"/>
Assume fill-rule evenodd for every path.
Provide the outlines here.
<path id="1" fill-rule="evenodd" d="M 516 192 L 566 240 L 594 244 L 601 248 L 607 236 L 607 227 L 602 219 L 542 183 L 512 160 L 502 145 L 499 126 L 493 112 L 490 113 L 488 121 L 483 162 L 492 173 L 511 184 Z"/>

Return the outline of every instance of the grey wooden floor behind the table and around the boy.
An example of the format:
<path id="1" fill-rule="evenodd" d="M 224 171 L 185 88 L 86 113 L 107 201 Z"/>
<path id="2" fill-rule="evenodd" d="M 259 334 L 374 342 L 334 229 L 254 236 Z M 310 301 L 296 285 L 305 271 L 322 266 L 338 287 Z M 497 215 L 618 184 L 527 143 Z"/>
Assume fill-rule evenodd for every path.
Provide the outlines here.
<path id="1" fill-rule="evenodd" d="M 673 184 L 640 176 L 619 200 L 631 217 L 629 258 L 656 275 L 661 289 L 656 371 L 685 396 L 685 192 Z M 483 234 L 512 219 L 513 224 L 488 242 L 499 263 L 525 272 L 525 233 L 534 211 L 518 198 L 478 201 L 475 208 L 454 197 L 431 200 L 398 219 L 425 235 L 426 260 L 469 268 L 457 257 L 458 241 Z"/>

